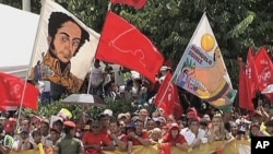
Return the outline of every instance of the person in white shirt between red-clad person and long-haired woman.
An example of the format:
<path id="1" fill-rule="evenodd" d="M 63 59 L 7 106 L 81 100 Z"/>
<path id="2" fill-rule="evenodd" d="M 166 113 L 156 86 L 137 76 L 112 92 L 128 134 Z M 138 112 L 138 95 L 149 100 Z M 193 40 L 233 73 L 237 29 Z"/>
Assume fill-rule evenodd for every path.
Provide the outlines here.
<path id="1" fill-rule="evenodd" d="M 197 118 L 189 119 L 188 127 L 180 131 L 191 147 L 199 147 L 201 144 L 207 143 L 206 132 L 200 129 L 200 122 Z"/>

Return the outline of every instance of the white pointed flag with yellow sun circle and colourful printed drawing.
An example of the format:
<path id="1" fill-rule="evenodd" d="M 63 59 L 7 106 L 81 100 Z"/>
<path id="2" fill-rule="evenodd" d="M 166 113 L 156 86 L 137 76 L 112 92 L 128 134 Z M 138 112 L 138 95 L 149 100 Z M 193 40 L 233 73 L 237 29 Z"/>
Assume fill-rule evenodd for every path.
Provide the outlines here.
<path id="1" fill-rule="evenodd" d="M 173 82 L 215 107 L 234 102 L 221 49 L 205 13 L 200 20 L 173 76 Z"/>

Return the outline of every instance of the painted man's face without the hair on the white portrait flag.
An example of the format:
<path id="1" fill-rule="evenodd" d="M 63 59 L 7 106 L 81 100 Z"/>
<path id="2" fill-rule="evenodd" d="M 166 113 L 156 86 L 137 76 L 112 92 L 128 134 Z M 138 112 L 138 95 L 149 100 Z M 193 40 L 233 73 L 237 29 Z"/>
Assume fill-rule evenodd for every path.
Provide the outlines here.
<path id="1" fill-rule="evenodd" d="M 80 47 L 81 28 L 73 22 L 66 22 L 58 28 L 50 43 L 51 50 L 63 63 L 68 63 Z M 52 48 L 54 47 L 54 48 Z"/>

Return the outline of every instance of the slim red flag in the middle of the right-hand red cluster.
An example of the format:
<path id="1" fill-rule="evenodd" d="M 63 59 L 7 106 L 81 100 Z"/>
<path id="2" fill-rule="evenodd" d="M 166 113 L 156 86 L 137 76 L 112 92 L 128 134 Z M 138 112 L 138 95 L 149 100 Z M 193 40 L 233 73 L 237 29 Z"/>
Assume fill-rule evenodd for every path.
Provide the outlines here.
<path id="1" fill-rule="evenodd" d="M 256 97 L 256 92 L 258 90 L 258 74 L 254 63 L 253 48 L 250 47 L 248 50 L 248 58 L 246 63 L 246 82 L 249 87 L 250 98 Z"/>

